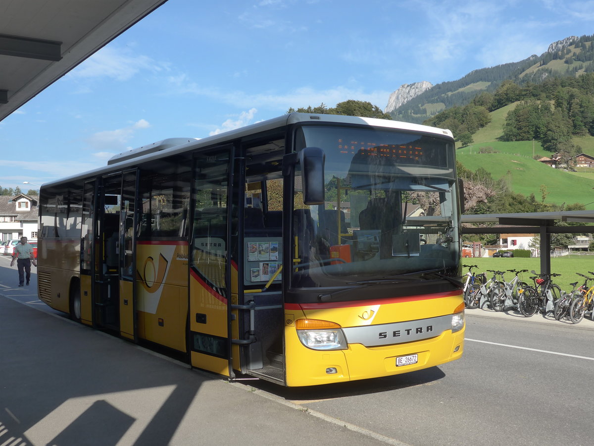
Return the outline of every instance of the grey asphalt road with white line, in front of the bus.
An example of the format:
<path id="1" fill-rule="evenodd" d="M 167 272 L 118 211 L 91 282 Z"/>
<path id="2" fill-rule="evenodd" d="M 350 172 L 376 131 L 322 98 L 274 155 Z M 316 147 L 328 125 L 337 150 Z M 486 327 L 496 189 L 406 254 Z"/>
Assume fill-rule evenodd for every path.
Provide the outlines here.
<path id="1" fill-rule="evenodd" d="M 16 287 L 17 272 L 6 268 L 8 262 L 0 258 L 0 294 L 53 312 L 36 299 L 36 277 L 31 288 Z M 327 387 L 285 389 L 262 381 L 235 387 L 266 400 L 268 416 L 276 405 L 301 409 L 333 426 L 330 431 L 348 426 L 356 435 L 346 444 L 361 444 L 361 438 L 423 446 L 594 443 L 594 322 L 484 310 L 470 310 L 466 319 L 465 353 L 443 366 Z M 258 413 L 249 411 L 249 417 L 263 421 Z M 298 435 L 287 438 L 295 442 L 286 444 L 301 444 Z"/>

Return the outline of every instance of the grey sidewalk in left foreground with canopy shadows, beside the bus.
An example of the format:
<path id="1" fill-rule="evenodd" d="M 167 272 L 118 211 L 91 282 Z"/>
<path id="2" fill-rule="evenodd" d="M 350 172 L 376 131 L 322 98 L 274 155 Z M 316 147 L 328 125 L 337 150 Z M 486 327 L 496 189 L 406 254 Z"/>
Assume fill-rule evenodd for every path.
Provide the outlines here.
<path id="1" fill-rule="evenodd" d="M 0 444 L 399 444 L 1 295 L 0 358 Z"/>

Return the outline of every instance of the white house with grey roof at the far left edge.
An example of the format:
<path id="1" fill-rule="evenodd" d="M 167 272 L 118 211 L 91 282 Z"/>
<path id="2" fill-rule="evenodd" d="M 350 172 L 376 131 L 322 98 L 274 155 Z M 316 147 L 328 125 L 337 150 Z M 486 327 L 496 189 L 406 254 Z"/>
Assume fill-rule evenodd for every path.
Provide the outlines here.
<path id="1" fill-rule="evenodd" d="M 38 201 L 39 197 L 25 194 L 0 195 L 0 240 L 37 240 Z"/>

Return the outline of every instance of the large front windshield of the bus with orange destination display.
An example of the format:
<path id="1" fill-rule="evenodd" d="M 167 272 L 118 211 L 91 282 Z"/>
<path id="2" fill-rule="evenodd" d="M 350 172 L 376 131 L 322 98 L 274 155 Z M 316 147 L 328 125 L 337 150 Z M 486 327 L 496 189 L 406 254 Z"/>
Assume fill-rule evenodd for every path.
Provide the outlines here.
<path id="1" fill-rule="evenodd" d="M 326 155 L 324 205 L 293 197 L 292 287 L 457 275 L 460 259 L 454 144 L 436 134 L 309 125 L 296 150 Z M 418 274 L 417 274 L 418 277 Z"/>

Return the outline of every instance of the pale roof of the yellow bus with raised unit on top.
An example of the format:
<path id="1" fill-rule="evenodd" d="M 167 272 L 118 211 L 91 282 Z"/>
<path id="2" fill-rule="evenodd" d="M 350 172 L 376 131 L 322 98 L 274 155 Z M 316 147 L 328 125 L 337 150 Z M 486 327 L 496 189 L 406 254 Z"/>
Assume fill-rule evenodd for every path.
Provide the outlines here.
<path id="1" fill-rule="evenodd" d="M 72 175 L 70 177 L 49 181 L 48 183 L 44 183 L 43 187 L 49 186 L 50 184 L 60 184 L 67 181 L 80 180 L 81 178 L 112 172 L 114 169 L 116 169 L 116 166 L 118 169 L 131 168 L 137 165 L 140 161 L 151 161 L 153 159 L 161 158 L 165 155 L 176 155 L 177 153 L 183 153 L 187 150 L 213 145 L 217 142 L 239 139 L 241 137 L 261 131 L 274 130 L 275 128 L 280 128 L 289 124 L 298 124 L 311 121 L 337 124 L 371 125 L 372 127 L 384 127 L 395 130 L 432 133 L 435 134 L 435 136 L 449 137 L 453 139 L 453 135 L 450 130 L 429 127 L 427 125 L 405 123 L 403 121 L 382 120 L 378 118 L 293 112 L 281 117 L 261 121 L 260 123 L 247 125 L 246 127 L 236 128 L 235 130 L 229 130 L 225 133 L 220 133 L 203 139 L 168 138 L 146 146 L 137 147 L 136 149 L 127 150 L 126 152 L 118 153 L 118 155 L 112 156 L 112 158 L 110 158 L 108 161 L 108 165 L 105 167 L 99 167 L 90 171 L 82 172 L 80 174 Z"/>

